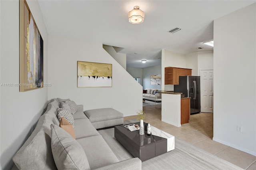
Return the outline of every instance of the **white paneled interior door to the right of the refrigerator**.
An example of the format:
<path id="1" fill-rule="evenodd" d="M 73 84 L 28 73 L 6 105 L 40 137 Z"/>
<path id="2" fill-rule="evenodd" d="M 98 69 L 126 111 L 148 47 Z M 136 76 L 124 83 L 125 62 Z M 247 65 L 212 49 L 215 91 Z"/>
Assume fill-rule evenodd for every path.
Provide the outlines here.
<path id="1" fill-rule="evenodd" d="M 201 112 L 213 113 L 213 69 L 200 70 Z"/>

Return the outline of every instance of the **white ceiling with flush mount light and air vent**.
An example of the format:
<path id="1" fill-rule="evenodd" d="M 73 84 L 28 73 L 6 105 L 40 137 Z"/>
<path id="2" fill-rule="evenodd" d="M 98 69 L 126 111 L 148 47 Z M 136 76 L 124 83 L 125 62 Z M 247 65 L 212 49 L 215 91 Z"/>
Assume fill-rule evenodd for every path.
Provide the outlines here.
<path id="1" fill-rule="evenodd" d="M 213 38 L 213 20 L 255 2 L 39 0 L 49 35 L 119 47 L 115 49 L 127 54 L 127 67 L 138 68 L 160 65 L 161 49 L 182 54 L 213 50 L 202 44 Z M 128 22 L 128 12 L 134 6 L 140 6 L 145 12 L 141 24 Z M 176 27 L 181 30 L 173 34 L 168 32 Z M 143 64 L 141 60 L 147 62 Z"/>

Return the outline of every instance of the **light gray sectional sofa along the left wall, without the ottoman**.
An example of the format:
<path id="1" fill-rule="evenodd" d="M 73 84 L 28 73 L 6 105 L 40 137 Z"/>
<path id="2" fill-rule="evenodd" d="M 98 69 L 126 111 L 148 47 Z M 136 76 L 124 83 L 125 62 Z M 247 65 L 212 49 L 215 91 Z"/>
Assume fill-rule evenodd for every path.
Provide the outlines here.
<path id="1" fill-rule="evenodd" d="M 52 99 L 48 104 L 36 128 L 14 155 L 12 170 L 56 170 L 57 166 L 59 169 L 141 170 L 139 158 L 118 160 L 84 114 L 83 105 L 78 105 L 78 111 L 73 114 L 76 139 L 58 127 L 60 122 L 56 109 L 59 105 L 57 99 Z M 65 148 L 65 144 L 68 147 Z M 63 156 L 63 152 L 66 156 Z"/>

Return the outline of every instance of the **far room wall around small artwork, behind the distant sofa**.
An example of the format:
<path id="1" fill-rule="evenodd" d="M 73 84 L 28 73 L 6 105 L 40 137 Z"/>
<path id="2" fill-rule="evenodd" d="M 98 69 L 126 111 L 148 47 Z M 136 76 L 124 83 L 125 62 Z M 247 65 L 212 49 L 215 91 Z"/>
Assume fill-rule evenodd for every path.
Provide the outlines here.
<path id="1" fill-rule="evenodd" d="M 156 65 L 153 67 L 143 68 L 143 89 L 158 89 L 161 90 L 161 85 L 151 85 L 150 76 L 161 74 L 161 65 Z M 164 81 L 163 81 L 164 83 Z"/>

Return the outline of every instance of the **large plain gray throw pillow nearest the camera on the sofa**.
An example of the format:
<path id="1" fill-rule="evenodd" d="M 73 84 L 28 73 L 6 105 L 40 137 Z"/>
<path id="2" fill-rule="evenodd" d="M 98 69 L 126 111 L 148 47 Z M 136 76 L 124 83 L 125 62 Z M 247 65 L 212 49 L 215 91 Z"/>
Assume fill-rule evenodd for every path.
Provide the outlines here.
<path id="1" fill-rule="evenodd" d="M 61 127 L 52 124 L 52 155 L 59 170 L 90 170 L 82 146 Z"/>

